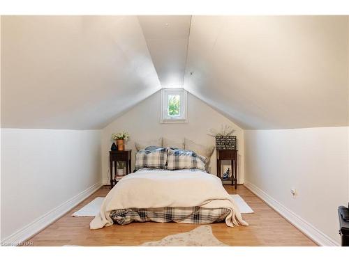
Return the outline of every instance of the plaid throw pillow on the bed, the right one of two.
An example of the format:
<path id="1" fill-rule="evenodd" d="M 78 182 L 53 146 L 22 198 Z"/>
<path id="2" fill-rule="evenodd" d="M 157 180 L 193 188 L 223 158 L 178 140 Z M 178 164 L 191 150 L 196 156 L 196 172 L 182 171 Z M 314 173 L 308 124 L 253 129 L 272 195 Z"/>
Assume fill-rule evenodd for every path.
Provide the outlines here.
<path id="1" fill-rule="evenodd" d="M 206 171 L 206 158 L 191 150 L 168 149 L 168 169 L 198 168 Z"/>

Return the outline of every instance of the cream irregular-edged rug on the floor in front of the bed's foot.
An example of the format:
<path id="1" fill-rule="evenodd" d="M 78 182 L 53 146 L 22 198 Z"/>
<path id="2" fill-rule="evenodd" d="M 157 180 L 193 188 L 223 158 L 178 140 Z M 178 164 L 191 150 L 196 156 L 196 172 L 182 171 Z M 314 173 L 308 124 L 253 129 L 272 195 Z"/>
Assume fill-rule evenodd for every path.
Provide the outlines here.
<path id="1" fill-rule="evenodd" d="M 140 246 L 227 246 L 212 233 L 211 226 L 204 225 L 189 232 L 169 235 L 159 241 L 145 242 Z"/>

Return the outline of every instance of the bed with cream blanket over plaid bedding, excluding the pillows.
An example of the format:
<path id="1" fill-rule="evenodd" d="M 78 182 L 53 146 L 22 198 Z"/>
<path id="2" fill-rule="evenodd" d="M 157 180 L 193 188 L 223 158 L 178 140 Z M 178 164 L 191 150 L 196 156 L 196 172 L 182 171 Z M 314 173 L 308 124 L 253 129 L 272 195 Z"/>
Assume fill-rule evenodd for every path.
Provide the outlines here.
<path id="1" fill-rule="evenodd" d="M 168 159 L 166 162 L 167 168 L 170 164 Z M 105 197 L 101 212 L 91 221 L 90 228 L 94 230 L 113 223 L 126 225 L 133 221 L 225 221 L 229 227 L 248 226 L 218 177 L 200 166 L 169 170 L 160 165 L 162 168 L 139 168 L 122 178 Z"/>

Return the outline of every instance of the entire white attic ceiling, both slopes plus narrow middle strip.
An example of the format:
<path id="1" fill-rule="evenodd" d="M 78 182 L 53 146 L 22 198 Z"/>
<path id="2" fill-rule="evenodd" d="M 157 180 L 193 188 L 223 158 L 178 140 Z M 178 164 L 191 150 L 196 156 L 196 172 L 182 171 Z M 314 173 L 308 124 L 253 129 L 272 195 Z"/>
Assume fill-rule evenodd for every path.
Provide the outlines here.
<path id="1" fill-rule="evenodd" d="M 1 127 L 102 128 L 161 86 L 245 129 L 348 125 L 348 39 L 345 16 L 1 17 Z"/>

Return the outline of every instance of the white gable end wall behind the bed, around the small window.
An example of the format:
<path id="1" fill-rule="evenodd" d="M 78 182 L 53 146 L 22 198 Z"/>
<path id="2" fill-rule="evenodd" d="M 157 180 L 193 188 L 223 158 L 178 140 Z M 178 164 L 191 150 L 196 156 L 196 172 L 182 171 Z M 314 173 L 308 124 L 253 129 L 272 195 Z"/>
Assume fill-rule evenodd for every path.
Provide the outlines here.
<path id="1" fill-rule="evenodd" d="M 120 104 L 121 105 L 121 104 Z M 127 131 L 131 140 L 126 143 L 126 149 L 132 149 L 132 168 L 135 164 L 135 141 L 148 141 L 166 137 L 179 141 L 180 139 L 191 139 L 196 143 L 214 145 L 213 137 L 207 135 L 209 129 L 220 129 L 221 125 L 232 125 L 236 131 L 239 150 L 239 183 L 244 182 L 244 130 L 225 118 L 210 106 L 202 102 L 194 95 L 188 93 L 188 123 L 161 124 L 161 92 L 158 91 L 146 100 L 135 106 L 123 116 L 114 120 L 103 129 L 103 181 L 109 180 L 109 151 L 112 141 L 110 136 L 113 132 Z M 216 151 L 211 157 L 209 166 L 210 173 L 216 174 Z"/>

